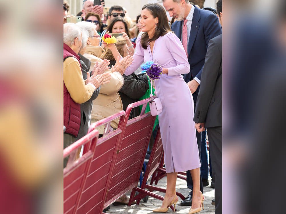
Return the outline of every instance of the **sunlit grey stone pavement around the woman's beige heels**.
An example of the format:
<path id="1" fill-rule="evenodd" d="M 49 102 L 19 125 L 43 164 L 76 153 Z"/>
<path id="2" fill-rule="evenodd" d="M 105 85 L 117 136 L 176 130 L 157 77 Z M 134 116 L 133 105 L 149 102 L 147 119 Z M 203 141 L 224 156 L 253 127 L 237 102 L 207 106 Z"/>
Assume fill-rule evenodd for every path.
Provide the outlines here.
<path id="1" fill-rule="evenodd" d="M 156 186 L 166 188 L 166 181 L 167 179 L 166 177 L 164 177 L 158 182 L 158 185 Z M 209 183 L 210 183 L 210 178 L 209 178 Z M 186 181 L 177 179 L 176 191 L 182 193 L 186 197 L 189 193 L 189 189 L 187 187 Z M 160 193 L 157 191 L 154 191 L 154 193 L 164 196 L 164 193 Z M 215 189 L 210 188 L 210 186 L 204 187 L 203 194 L 205 197 L 204 210 L 202 210 L 199 213 L 215 214 L 215 206 L 211 205 L 212 199 L 215 198 Z M 179 198 L 179 201 L 176 205 L 176 209 L 177 209 L 176 213 L 188 213 L 188 211 L 190 210 L 190 207 L 181 206 L 180 201 L 181 199 Z M 143 202 L 143 200 L 141 200 L 139 205 L 135 204 L 135 205 L 131 205 L 131 207 L 124 206 L 124 205 L 121 205 L 121 206 L 110 205 L 110 209 L 106 211 L 106 213 L 109 213 L 109 214 L 113 214 L 113 213 L 147 214 L 147 213 L 153 213 L 152 210 L 157 207 L 160 207 L 161 205 L 162 205 L 162 201 L 149 197 L 146 203 Z M 173 211 L 169 208 L 167 213 L 173 213 Z"/>

